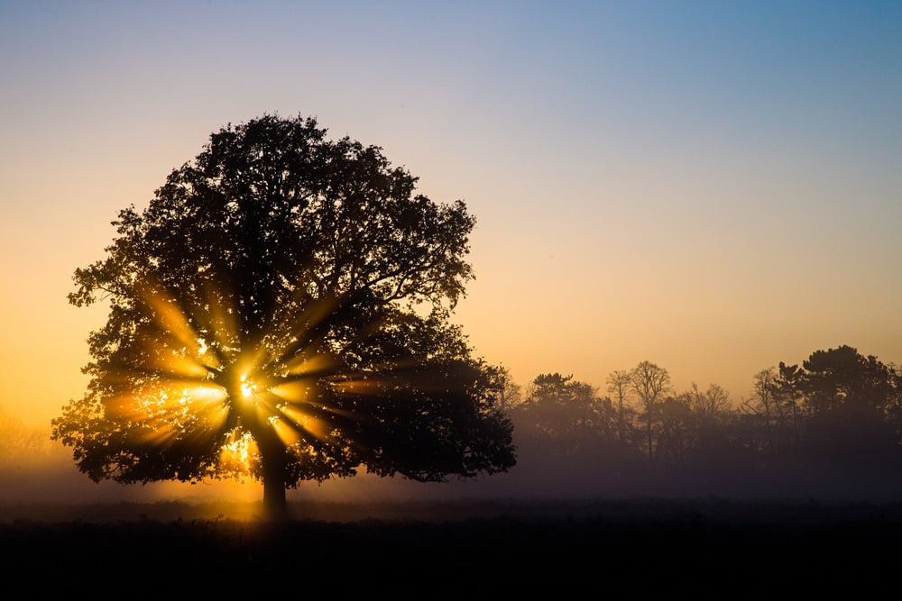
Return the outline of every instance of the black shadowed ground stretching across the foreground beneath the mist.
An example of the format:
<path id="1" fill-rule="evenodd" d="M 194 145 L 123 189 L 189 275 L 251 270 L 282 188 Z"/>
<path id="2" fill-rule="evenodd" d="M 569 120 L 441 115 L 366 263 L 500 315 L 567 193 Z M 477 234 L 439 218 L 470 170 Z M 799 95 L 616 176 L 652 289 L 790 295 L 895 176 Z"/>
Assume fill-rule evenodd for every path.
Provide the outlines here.
<path id="1" fill-rule="evenodd" d="M 902 504 L 291 509 L 296 519 L 275 527 L 246 519 L 258 505 L 6 506 L 0 573 L 7 587 L 26 593 L 125 598 L 179 598 L 186 590 L 205 598 L 243 590 L 475 598 L 490 589 L 530 598 L 810 597 L 825 590 L 874 598 L 898 596 L 902 574 Z"/>

